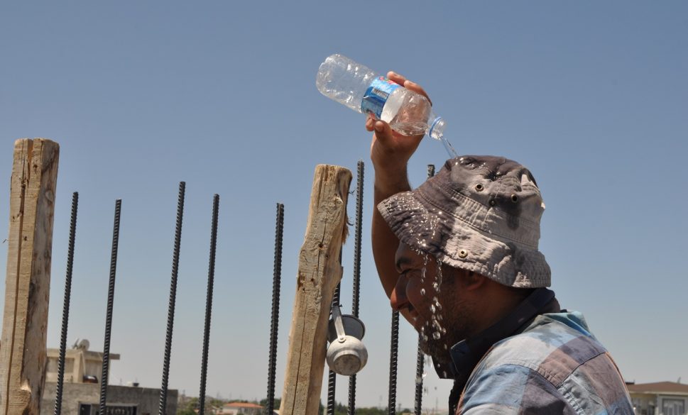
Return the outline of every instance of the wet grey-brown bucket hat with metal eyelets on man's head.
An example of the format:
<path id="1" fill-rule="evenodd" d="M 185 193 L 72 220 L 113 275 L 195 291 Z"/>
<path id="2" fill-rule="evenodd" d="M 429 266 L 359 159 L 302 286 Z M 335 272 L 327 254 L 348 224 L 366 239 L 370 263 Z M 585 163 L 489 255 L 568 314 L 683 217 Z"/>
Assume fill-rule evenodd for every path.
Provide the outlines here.
<path id="1" fill-rule="evenodd" d="M 466 155 L 411 192 L 378 204 L 395 235 L 444 264 L 510 287 L 550 285 L 537 250 L 545 204 L 523 165 L 503 157 Z"/>

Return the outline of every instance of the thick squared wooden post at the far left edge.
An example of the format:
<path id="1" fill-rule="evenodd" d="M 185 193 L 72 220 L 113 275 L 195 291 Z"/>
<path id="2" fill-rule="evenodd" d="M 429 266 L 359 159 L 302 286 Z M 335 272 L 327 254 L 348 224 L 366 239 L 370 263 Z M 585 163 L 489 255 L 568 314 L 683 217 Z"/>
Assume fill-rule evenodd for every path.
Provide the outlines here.
<path id="1" fill-rule="evenodd" d="M 39 415 L 45 382 L 58 143 L 14 143 L 5 309 L 0 343 L 0 415 Z"/>

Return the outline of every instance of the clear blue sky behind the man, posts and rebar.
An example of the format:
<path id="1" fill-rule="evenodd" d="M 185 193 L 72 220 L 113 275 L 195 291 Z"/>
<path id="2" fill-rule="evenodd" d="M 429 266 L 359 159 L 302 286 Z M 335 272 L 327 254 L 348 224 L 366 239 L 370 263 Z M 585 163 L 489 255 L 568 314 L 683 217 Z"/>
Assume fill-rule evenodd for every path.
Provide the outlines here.
<path id="1" fill-rule="evenodd" d="M 159 387 L 178 182 L 187 182 L 170 387 L 197 395 L 212 194 L 221 197 L 208 392 L 266 396 L 275 203 L 285 204 L 277 394 L 315 165 L 366 161 L 359 406 L 386 404 L 391 311 L 369 249 L 364 118 L 320 95 L 334 52 L 422 84 L 459 153 L 530 167 L 553 288 L 627 380 L 688 382 L 688 5 L 683 1 L 62 2 L 0 6 L 0 189 L 13 140 L 60 143 L 48 345 L 59 343 L 72 192 L 69 329 L 102 349 L 114 200 L 123 199 L 111 382 Z M 410 164 L 446 153 L 428 140 Z M 0 218 L 9 218 L 8 197 Z M 349 205 L 353 216 L 354 205 Z M 0 221 L 6 234 L 7 221 Z M 6 244 L 0 245 L 0 266 Z M 344 251 L 351 306 L 353 241 Z M 4 299 L 0 298 L 0 305 Z M 413 405 L 403 323 L 398 402 Z M 340 378 L 337 399 L 346 401 Z M 427 377 L 426 404 L 449 382 Z M 435 389 L 436 388 L 436 389 Z"/>

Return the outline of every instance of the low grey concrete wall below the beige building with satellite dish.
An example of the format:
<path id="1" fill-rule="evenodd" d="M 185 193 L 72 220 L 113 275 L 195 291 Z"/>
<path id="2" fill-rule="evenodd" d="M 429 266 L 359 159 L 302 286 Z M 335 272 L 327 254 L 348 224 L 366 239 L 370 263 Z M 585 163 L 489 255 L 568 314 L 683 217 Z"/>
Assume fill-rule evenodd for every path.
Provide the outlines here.
<path id="1" fill-rule="evenodd" d="M 43 399 L 40 402 L 40 415 L 53 415 L 55 411 L 55 382 L 45 382 Z M 177 414 L 178 392 L 168 389 L 167 415 Z M 136 406 L 136 415 L 158 414 L 160 389 L 147 387 L 114 386 L 107 387 L 107 405 Z M 62 415 L 79 415 L 80 404 L 100 403 L 100 384 L 66 383 L 62 387 Z"/>

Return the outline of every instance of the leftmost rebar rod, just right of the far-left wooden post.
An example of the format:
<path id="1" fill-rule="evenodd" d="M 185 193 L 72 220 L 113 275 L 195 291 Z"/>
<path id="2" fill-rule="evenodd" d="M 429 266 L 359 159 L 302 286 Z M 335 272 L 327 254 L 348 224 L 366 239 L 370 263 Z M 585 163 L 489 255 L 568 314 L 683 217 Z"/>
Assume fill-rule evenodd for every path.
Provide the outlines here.
<path id="1" fill-rule="evenodd" d="M 58 358 L 58 383 L 55 385 L 55 415 L 62 413 L 62 385 L 65 377 L 65 352 L 67 349 L 67 325 L 70 319 L 70 297 L 72 297 L 72 265 L 74 262 L 74 240 L 77 231 L 77 209 L 79 193 L 72 193 L 72 218 L 70 220 L 70 241 L 67 245 L 67 276 L 65 277 L 65 302 L 62 306 L 62 331 L 60 333 L 60 357 Z"/>

